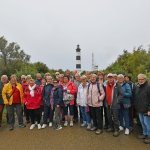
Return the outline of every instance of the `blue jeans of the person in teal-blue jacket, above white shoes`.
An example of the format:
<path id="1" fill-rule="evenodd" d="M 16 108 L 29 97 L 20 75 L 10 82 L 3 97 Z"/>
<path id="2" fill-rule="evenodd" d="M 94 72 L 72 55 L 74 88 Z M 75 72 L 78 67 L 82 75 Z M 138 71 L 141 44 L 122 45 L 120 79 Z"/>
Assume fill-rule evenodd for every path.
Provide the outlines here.
<path id="1" fill-rule="evenodd" d="M 129 119 L 129 108 L 124 108 L 123 105 L 121 105 L 121 108 L 119 110 L 120 126 L 129 129 Z"/>

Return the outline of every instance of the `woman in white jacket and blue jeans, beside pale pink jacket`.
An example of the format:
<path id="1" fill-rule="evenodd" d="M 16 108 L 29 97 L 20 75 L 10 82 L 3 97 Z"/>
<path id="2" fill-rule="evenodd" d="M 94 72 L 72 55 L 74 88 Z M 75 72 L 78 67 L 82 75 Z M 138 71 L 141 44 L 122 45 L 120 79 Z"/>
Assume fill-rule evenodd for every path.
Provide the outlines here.
<path id="1" fill-rule="evenodd" d="M 81 84 L 78 87 L 77 104 L 80 107 L 81 115 L 83 118 L 83 123 L 81 124 L 81 127 L 87 125 L 87 129 L 89 130 L 91 129 L 91 118 L 89 115 L 89 107 L 87 105 L 87 89 L 88 89 L 87 77 L 83 75 L 81 77 Z"/>

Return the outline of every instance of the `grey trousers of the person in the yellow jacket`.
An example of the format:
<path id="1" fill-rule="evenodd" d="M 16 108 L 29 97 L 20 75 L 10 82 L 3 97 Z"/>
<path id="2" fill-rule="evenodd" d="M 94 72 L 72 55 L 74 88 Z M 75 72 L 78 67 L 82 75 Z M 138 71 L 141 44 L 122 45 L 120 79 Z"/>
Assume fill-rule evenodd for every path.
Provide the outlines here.
<path id="1" fill-rule="evenodd" d="M 23 113 L 21 104 L 7 105 L 6 109 L 8 112 L 9 123 L 12 127 L 14 127 L 15 124 L 15 109 L 19 125 L 23 124 Z"/>

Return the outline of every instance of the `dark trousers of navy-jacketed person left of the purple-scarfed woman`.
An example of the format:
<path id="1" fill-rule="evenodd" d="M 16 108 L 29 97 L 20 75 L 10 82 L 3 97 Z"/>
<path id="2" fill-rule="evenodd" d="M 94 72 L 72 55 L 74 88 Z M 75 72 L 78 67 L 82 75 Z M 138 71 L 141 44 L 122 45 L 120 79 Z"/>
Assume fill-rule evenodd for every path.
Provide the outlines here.
<path id="1" fill-rule="evenodd" d="M 53 116 L 54 116 L 54 110 L 52 110 L 50 106 L 44 106 L 43 123 L 47 124 L 48 118 L 50 122 L 53 122 Z"/>

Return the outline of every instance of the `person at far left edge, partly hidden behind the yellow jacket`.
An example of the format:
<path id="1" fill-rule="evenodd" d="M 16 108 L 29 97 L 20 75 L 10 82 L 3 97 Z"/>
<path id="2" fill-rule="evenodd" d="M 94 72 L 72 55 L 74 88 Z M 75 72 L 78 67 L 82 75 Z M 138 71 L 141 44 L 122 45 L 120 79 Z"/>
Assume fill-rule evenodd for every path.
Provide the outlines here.
<path id="1" fill-rule="evenodd" d="M 2 115 L 3 115 L 3 110 L 4 110 L 4 101 L 3 101 L 3 98 L 2 98 L 2 90 L 3 90 L 4 85 L 7 82 L 8 82 L 7 75 L 2 75 L 1 76 L 1 81 L 0 81 L 0 127 L 2 125 Z"/>

